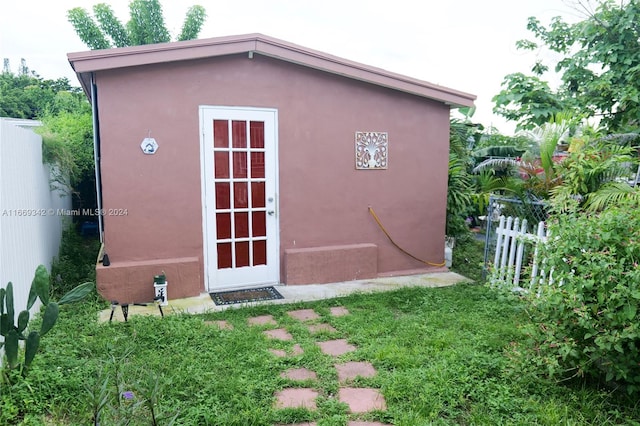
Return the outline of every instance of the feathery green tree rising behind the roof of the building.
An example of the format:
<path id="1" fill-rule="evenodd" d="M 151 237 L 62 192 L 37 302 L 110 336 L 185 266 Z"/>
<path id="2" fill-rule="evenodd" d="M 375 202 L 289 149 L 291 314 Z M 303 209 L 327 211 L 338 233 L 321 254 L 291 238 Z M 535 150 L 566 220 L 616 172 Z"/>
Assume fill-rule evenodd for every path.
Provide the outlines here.
<path id="1" fill-rule="evenodd" d="M 67 18 L 80 39 L 92 50 L 171 41 L 158 0 L 132 0 L 129 3 L 130 20 L 126 25 L 116 18 L 108 4 L 95 5 L 93 13 L 95 20 L 81 7 L 67 13 Z M 197 38 L 206 16 L 202 6 L 191 6 L 176 39 L 183 41 Z"/>

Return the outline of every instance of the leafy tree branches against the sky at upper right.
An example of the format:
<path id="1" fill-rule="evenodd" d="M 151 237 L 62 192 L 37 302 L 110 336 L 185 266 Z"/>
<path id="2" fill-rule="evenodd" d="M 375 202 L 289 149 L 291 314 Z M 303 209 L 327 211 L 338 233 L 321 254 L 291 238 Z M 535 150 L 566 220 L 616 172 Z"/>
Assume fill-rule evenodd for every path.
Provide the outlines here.
<path id="1" fill-rule="evenodd" d="M 578 0 L 584 20 L 568 24 L 556 17 L 546 27 L 530 17 L 527 29 L 536 41 L 519 49 L 541 46 L 561 55 L 555 71 L 561 86 L 551 90 L 542 77 L 549 66 L 541 62 L 532 76 L 510 74 L 494 97 L 494 112 L 518 122 L 520 128 L 540 125 L 559 111 L 601 118 L 609 131 L 640 125 L 640 0 L 604 0 L 590 9 Z"/>

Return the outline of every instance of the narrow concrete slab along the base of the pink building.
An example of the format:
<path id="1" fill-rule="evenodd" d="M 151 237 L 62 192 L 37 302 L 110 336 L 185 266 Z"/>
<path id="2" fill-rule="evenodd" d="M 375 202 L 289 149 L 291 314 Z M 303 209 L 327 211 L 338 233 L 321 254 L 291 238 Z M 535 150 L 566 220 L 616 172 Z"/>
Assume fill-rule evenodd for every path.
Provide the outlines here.
<path id="1" fill-rule="evenodd" d="M 467 278 L 455 272 L 431 272 L 427 274 L 402 275 L 394 277 L 381 277 L 368 280 L 347 281 L 330 284 L 306 284 L 306 285 L 278 285 L 275 286 L 278 292 L 284 296 L 283 299 L 266 300 L 260 302 L 239 303 L 234 305 L 216 305 L 211 300 L 208 293 L 203 293 L 198 297 L 186 299 L 171 299 L 171 287 L 167 288 L 169 305 L 163 306 L 165 315 L 172 313 L 205 313 L 212 311 L 222 311 L 229 308 L 242 306 L 256 306 L 263 304 L 285 304 L 294 302 L 309 302 L 314 300 L 333 299 L 336 297 L 348 296 L 353 293 L 374 293 L 381 291 L 397 290 L 403 287 L 446 287 L 460 282 L 469 281 Z M 129 302 L 129 316 L 132 315 L 160 315 L 158 307 L 154 303 L 147 303 L 147 306 L 133 305 Z M 138 302 L 138 301 L 136 301 Z M 100 312 L 101 321 L 109 321 L 111 309 Z M 342 313 L 344 315 L 344 313 Z M 123 321 L 124 317 L 120 307 L 113 311 L 113 321 Z"/>

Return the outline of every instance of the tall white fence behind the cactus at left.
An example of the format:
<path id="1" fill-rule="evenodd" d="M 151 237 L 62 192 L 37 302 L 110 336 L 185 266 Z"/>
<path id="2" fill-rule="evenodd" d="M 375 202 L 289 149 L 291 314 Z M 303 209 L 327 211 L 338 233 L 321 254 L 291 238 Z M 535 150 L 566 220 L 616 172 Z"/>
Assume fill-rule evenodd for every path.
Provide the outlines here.
<path id="1" fill-rule="evenodd" d="M 50 188 L 42 139 L 31 130 L 37 124 L 0 118 L 0 286 L 13 283 L 16 312 L 26 307 L 36 267 L 50 270 L 71 209 L 71 197 Z"/>

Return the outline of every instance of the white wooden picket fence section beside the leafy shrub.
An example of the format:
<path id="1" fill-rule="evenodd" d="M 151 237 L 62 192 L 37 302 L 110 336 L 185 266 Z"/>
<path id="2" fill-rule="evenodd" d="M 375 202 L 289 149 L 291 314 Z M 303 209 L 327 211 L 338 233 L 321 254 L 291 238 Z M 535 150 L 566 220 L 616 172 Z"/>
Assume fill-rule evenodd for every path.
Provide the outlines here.
<path id="1" fill-rule="evenodd" d="M 493 270 L 490 276 L 492 286 L 504 285 L 512 289 L 523 290 L 522 271 L 531 266 L 529 290 L 542 283 L 551 283 L 552 274 L 544 267 L 544 259 L 540 258 L 540 244 L 548 237 L 544 222 L 539 222 L 533 232 L 529 232 L 526 219 L 500 216 L 496 229 L 496 251 L 493 259 Z M 523 264 L 525 249 L 533 250 L 530 264 Z"/>

